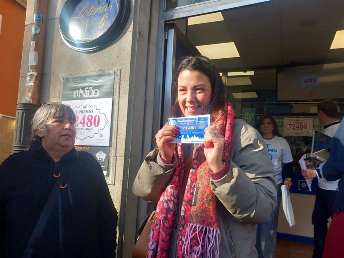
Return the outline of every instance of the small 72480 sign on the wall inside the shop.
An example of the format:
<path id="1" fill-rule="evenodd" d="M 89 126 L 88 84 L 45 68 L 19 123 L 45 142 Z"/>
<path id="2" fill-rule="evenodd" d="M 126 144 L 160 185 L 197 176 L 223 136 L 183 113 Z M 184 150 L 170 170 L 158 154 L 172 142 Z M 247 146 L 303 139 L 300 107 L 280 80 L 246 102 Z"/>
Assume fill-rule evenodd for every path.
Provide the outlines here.
<path id="1" fill-rule="evenodd" d="M 284 136 L 312 136 L 313 118 L 284 118 Z"/>

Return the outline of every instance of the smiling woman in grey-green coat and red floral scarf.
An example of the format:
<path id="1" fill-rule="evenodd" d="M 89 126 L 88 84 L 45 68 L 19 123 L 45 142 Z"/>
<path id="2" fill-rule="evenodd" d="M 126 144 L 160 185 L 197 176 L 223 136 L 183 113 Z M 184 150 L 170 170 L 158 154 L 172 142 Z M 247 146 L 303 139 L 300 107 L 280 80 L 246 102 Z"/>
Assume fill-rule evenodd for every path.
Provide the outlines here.
<path id="1" fill-rule="evenodd" d="M 172 117 L 210 114 L 204 144 L 172 144 L 165 125 L 134 181 L 133 193 L 157 204 L 149 258 L 257 257 L 256 225 L 276 206 L 274 170 L 264 141 L 225 104 L 225 87 L 206 57 L 175 69 Z"/>

